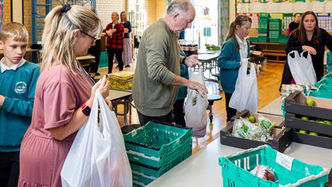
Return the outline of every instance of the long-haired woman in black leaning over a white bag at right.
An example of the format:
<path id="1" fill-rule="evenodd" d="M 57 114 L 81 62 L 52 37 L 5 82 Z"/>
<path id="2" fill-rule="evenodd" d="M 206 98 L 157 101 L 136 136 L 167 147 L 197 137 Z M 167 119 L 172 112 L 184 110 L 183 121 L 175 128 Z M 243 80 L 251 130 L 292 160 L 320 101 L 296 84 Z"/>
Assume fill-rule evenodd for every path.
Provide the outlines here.
<path id="1" fill-rule="evenodd" d="M 332 36 L 323 28 L 318 27 L 317 17 L 314 12 L 304 12 L 299 28 L 295 29 L 288 38 L 286 53 L 308 51 L 311 54 L 313 69 L 315 69 L 318 81 L 324 74 L 325 46 L 332 51 Z M 293 77 L 286 62 L 282 75 L 282 84 L 293 83 L 292 80 Z"/>

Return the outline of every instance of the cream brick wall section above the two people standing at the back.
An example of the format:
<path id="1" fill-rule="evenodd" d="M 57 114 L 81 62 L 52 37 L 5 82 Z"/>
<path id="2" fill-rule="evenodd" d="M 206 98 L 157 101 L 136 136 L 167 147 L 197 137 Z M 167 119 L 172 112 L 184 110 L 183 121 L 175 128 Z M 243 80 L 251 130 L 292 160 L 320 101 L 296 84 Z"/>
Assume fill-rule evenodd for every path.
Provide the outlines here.
<path id="1" fill-rule="evenodd" d="M 112 12 L 118 12 L 119 16 L 122 11 L 127 11 L 127 0 L 98 0 L 96 1 L 96 10 L 102 20 L 102 27 L 112 22 Z"/>

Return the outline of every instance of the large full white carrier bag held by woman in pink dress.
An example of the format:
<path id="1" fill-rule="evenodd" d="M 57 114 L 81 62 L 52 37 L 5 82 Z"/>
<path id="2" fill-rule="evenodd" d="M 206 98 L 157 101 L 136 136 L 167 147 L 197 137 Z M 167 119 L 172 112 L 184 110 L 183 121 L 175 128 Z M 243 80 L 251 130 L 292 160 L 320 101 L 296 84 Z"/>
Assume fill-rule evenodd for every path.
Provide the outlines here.
<path id="1" fill-rule="evenodd" d="M 89 120 L 77 132 L 68 152 L 61 180 L 63 187 L 132 186 L 120 125 L 99 90 L 95 91 Z"/>

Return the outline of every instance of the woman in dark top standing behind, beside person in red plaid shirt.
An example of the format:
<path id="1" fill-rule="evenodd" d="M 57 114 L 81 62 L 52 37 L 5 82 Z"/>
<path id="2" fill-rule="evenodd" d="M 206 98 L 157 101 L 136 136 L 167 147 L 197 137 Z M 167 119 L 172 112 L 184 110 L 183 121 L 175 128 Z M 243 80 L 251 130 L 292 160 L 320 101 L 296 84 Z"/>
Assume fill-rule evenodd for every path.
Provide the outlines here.
<path id="1" fill-rule="evenodd" d="M 129 67 L 129 64 L 131 64 L 131 61 L 132 61 L 131 44 L 130 44 L 130 37 L 129 37 L 129 33 L 131 32 L 131 24 L 127 20 L 126 12 L 122 11 L 120 14 L 120 17 L 121 17 L 121 24 L 124 26 L 122 59 L 123 59 L 124 66 Z"/>

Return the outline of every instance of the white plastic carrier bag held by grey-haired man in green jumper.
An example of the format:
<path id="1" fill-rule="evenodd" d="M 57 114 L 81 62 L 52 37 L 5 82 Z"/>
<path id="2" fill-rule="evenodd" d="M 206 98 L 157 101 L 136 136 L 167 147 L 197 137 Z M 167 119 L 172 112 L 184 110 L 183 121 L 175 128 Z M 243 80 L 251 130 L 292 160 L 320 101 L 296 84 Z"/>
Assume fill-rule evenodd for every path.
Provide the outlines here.
<path id="1" fill-rule="evenodd" d="M 189 80 L 205 85 L 202 66 L 199 66 L 198 72 L 194 72 L 190 68 Z M 192 127 L 193 136 L 205 136 L 206 125 L 208 125 L 208 114 L 206 113 L 208 104 L 207 94 L 188 89 L 187 100 L 185 101 L 185 126 Z"/>

